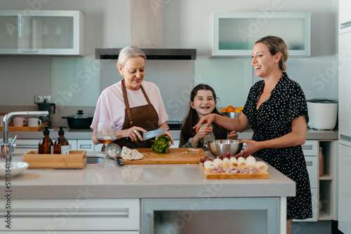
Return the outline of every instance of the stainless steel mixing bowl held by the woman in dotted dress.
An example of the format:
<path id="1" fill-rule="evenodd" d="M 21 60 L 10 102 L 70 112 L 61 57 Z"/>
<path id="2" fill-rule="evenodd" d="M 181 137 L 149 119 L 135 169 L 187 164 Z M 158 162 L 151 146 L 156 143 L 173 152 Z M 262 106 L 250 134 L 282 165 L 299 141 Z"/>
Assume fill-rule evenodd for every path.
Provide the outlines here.
<path id="1" fill-rule="evenodd" d="M 234 156 L 242 149 L 242 143 L 237 139 L 216 139 L 207 142 L 207 146 L 213 156 L 222 156 L 227 152 Z"/>

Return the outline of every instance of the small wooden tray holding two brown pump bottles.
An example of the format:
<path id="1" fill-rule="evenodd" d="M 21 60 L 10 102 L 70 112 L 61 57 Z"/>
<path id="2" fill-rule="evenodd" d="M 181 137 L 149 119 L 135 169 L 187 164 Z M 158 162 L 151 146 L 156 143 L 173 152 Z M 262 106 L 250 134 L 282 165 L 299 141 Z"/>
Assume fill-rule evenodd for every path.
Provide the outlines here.
<path id="1" fill-rule="evenodd" d="M 28 168 L 83 169 L 86 166 L 86 151 L 69 151 L 69 154 L 39 154 L 29 151 L 23 155 Z"/>

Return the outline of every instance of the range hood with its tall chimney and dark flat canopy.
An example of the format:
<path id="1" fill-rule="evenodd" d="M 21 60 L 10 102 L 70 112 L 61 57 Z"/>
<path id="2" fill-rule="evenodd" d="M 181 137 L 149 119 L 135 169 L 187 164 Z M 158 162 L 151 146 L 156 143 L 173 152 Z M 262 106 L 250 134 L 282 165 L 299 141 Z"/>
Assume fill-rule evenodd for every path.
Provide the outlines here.
<path id="1" fill-rule="evenodd" d="M 131 1 L 131 46 L 147 60 L 196 60 L 196 49 L 162 48 L 162 1 Z M 120 48 L 96 48 L 97 60 L 117 60 Z"/>

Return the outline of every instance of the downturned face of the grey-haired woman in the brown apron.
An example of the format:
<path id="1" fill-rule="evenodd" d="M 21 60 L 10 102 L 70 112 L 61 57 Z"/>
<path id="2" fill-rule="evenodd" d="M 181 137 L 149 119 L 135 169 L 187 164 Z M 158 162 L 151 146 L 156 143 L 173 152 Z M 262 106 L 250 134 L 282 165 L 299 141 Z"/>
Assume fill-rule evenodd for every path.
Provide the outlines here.
<path id="1" fill-rule="evenodd" d="M 124 67 L 118 65 L 128 90 L 138 90 L 145 76 L 145 60 L 143 57 L 131 57 Z"/>

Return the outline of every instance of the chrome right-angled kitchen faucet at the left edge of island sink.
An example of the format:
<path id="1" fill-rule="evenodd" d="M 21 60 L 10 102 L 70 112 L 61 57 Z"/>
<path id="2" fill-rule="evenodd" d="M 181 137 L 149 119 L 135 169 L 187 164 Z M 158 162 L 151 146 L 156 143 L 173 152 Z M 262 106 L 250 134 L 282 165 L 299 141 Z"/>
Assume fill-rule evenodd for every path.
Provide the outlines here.
<path id="1" fill-rule="evenodd" d="M 12 152 L 11 152 L 11 144 L 15 142 L 15 139 L 11 144 L 8 143 L 8 123 L 10 122 L 11 118 L 15 117 L 37 117 L 37 116 L 48 116 L 48 111 L 17 111 L 17 112 L 10 112 L 4 116 L 3 121 L 3 132 L 4 138 L 3 143 L 1 143 L 0 149 L 0 163 L 4 163 L 7 161 L 12 160 Z M 16 136 L 17 137 L 17 136 Z"/>

